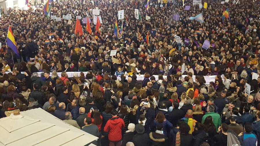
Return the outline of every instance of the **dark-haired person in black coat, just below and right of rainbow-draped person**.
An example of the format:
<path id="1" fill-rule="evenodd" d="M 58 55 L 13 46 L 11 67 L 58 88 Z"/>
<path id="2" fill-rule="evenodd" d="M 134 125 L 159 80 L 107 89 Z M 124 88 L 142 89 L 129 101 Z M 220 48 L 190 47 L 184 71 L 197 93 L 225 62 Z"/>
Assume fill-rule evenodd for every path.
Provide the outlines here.
<path id="1" fill-rule="evenodd" d="M 200 146 L 201 143 L 206 141 L 207 134 L 203 130 L 203 124 L 196 122 L 194 127 L 194 132 L 192 132 L 193 135 L 193 146 Z"/>

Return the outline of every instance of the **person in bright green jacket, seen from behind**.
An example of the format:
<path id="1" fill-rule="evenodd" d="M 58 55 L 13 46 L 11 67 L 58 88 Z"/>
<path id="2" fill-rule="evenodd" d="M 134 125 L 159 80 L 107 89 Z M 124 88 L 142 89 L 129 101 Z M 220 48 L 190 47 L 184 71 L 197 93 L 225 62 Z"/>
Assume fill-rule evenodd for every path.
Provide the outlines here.
<path id="1" fill-rule="evenodd" d="M 214 110 L 214 106 L 209 104 L 207 107 L 207 113 L 205 113 L 205 115 L 202 117 L 201 123 L 204 123 L 205 119 L 208 116 L 211 116 L 213 119 L 213 123 L 216 127 L 216 131 L 218 131 L 218 127 L 221 126 L 221 119 L 220 115 L 218 113 L 215 113 Z"/>

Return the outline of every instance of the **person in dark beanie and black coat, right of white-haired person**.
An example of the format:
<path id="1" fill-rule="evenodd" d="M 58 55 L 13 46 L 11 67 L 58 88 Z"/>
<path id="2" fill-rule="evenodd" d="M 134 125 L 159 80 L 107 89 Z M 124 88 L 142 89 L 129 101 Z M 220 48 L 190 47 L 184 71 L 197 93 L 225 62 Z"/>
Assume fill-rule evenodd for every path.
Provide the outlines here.
<path id="1" fill-rule="evenodd" d="M 135 131 L 137 134 L 133 136 L 132 140 L 135 146 L 148 146 L 151 144 L 149 135 L 144 133 L 144 126 L 142 124 L 135 125 Z"/>

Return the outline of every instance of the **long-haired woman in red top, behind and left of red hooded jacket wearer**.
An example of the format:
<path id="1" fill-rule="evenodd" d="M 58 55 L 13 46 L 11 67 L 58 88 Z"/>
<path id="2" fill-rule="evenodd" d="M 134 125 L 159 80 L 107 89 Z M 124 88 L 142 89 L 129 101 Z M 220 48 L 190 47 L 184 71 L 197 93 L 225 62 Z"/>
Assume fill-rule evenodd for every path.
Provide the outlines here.
<path id="1" fill-rule="evenodd" d="M 99 131 L 101 131 L 103 117 L 100 115 L 99 110 L 90 109 L 88 113 L 88 117 L 91 118 L 91 122 L 96 126 L 98 126 Z"/>

